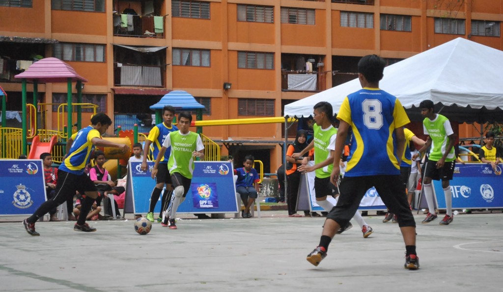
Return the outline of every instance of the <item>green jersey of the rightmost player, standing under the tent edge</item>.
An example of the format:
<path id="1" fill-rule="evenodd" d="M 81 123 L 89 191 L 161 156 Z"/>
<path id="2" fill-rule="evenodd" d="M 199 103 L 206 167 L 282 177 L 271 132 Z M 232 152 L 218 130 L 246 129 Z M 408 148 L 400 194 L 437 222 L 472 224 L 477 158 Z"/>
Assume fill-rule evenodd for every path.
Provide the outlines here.
<path id="1" fill-rule="evenodd" d="M 433 161 L 439 161 L 446 152 L 447 145 L 449 145 L 449 135 L 454 134 L 454 131 L 452 131 L 451 123 L 445 116 L 437 114 L 434 120 L 425 118 L 423 120 L 423 128 L 425 135 L 430 136 L 430 138 L 432 139 L 432 147 L 430 150 L 429 159 Z M 454 161 L 455 159 L 456 155 L 454 154 L 454 147 L 452 147 L 445 161 L 450 162 Z"/>

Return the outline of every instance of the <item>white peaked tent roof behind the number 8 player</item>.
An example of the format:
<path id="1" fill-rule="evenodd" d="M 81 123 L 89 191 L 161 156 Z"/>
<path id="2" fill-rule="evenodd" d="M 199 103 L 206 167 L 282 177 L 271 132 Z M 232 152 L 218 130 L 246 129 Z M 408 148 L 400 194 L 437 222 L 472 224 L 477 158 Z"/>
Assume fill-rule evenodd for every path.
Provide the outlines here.
<path id="1" fill-rule="evenodd" d="M 436 110 L 458 122 L 503 120 L 503 52 L 457 38 L 384 69 L 383 90 L 395 95 L 411 120 L 422 120 L 417 107 L 430 99 Z M 347 94 L 361 89 L 358 79 L 285 106 L 285 116 L 308 117 L 327 101 L 337 113 Z"/>

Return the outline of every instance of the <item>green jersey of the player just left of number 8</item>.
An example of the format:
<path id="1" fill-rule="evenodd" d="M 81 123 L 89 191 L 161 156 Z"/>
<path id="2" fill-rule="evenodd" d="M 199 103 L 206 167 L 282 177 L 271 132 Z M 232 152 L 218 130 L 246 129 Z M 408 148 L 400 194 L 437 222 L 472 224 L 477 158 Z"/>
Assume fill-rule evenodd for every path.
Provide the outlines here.
<path id="1" fill-rule="evenodd" d="M 314 124 L 314 164 L 321 163 L 330 157 L 330 150 L 335 150 L 337 129 L 332 127 L 321 129 Z M 333 169 L 333 163 L 315 170 L 316 177 L 329 177 Z"/>

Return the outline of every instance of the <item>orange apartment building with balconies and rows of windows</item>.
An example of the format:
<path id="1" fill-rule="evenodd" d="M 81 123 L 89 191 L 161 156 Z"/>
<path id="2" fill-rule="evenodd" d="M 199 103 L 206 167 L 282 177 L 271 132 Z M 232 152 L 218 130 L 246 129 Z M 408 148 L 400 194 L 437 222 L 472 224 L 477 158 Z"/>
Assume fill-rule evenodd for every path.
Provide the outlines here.
<path id="1" fill-rule="evenodd" d="M 457 37 L 502 49 L 501 21 L 503 0 L 0 0 L 0 84 L 8 110 L 20 111 L 13 76 L 57 57 L 89 80 L 83 100 L 123 129 L 121 117 L 147 120 L 148 131 L 148 107 L 174 89 L 206 106 L 204 120 L 281 117 L 285 104 L 355 78 L 367 54 L 391 64 Z M 38 99 L 64 103 L 66 90 L 39 84 Z M 56 106 L 43 111 L 54 129 Z M 461 125 L 460 136 L 480 136 L 476 129 Z M 223 155 L 253 153 L 265 172 L 281 164 L 283 132 L 203 129 L 230 147 Z"/>

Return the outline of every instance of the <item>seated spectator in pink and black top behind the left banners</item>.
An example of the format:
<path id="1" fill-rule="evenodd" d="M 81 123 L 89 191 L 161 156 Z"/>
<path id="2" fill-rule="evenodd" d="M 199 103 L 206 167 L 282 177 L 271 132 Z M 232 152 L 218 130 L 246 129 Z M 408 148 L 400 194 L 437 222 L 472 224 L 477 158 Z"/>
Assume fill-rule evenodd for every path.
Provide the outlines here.
<path id="1" fill-rule="evenodd" d="M 96 184 L 96 188 L 98 189 L 99 197 L 96 200 L 98 207 L 100 206 L 101 200 L 106 200 L 108 202 L 108 208 L 105 210 L 105 219 L 111 218 L 112 215 L 112 207 L 111 201 L 107 197 L 107 194 L 112 193 L 115 195 L 119 195 L 125 191 L 123 186 L 115 186 L 115 183 L 109 179 L 108 171 L 103 168 L 103 164 L 105 163 L 105 153 L 98 150 L 95 152 L 96 165 L 89 170 L 89 177 Z M 116 219 L 121 219 L 121 215 L 119 212 L 119 206 L 117 206 L 117 202 L 114 200 L 115 205 L 115 214 L 117 216 Z"/>

